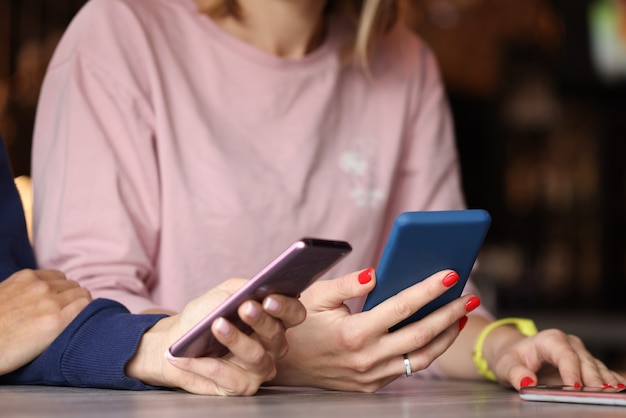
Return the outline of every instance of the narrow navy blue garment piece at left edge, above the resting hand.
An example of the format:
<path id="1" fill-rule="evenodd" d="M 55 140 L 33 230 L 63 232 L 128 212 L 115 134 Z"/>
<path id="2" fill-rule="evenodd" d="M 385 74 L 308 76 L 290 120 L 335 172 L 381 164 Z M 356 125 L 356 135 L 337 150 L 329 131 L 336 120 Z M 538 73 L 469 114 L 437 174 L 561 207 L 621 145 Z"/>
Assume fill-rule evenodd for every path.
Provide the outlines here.
<path id="1" fill-rule="evenodd" d="M 0 137 L 0 281 L 25 268 L 35 268 L 26 220 L 4 141 Z"/>

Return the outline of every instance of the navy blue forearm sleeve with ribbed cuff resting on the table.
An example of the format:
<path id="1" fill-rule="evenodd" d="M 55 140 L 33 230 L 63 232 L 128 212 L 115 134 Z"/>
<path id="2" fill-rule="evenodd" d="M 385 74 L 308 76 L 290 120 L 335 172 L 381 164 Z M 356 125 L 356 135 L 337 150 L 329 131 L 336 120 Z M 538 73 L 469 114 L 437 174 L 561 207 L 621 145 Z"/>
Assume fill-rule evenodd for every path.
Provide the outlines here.
<path id="1" fill-rule="evenodd" d="M 0 384 L 155 389 L 124 372 L 143 334 L 166 315 L 133 315 L 118 302 L 91 302 L 39 357 Z"/>

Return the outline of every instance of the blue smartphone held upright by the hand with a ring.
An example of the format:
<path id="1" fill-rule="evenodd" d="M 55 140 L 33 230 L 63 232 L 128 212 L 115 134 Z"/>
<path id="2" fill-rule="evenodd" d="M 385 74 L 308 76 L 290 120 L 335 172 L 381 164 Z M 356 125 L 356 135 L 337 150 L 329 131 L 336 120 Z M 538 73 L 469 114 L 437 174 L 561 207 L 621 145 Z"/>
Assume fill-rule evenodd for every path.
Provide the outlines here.
<path id="1" fill-rule="evenodd" d="M 451 269 L 459 282 L 413 315 L 395 331 L 461 296 L 491 216 L 482 209 L 404 212 L 396 218 L 376 268 L 376 287 L 365 300 L 367 311 L 432 274 Z"/>

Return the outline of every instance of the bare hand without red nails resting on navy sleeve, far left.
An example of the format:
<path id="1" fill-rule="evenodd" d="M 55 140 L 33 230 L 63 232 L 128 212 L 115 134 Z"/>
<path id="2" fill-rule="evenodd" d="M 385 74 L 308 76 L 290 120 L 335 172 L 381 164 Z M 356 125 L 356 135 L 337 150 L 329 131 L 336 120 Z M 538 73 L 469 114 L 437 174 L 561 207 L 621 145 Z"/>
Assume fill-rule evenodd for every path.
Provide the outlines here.
<path id="1" fill-rule="evenodd" d="M 0 283 L 0 375 L 40 355 L 91 301 L 53 270 L 21 270 Z"/>

